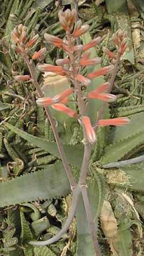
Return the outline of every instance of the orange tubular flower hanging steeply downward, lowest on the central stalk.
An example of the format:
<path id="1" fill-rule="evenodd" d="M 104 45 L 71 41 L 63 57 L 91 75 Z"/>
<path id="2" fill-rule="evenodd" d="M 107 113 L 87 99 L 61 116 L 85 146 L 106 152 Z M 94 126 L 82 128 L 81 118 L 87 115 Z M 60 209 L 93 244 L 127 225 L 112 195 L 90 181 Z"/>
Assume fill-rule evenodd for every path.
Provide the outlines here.
<path id="1" fill-rule="evenodd" d="M 90 118 L 88 116 L 83 116 L 82 123 L 84 124 L 86 137 L 90 143 L 96 142 L 96 133 L 90 123 Z"/>

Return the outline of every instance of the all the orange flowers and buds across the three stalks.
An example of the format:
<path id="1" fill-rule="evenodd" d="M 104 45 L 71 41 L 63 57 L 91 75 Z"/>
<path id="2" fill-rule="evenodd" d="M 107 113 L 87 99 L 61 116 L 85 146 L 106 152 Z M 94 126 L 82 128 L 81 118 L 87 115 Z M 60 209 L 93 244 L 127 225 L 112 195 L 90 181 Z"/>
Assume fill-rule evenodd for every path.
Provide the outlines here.
<path id="1" fill-rule="evenodd" d="M 56 74 L 60 74 L 61 76 L 67 76 L 73 83 L 71 88 L 66 89 L 66 91 L 55 95 L 54 97 L 43 97 L 38 99 L 36 102 L 40 106 L 49 106 L 51 105 L 57 111 L 65 112 L 67 115 L 71 117 L 75 117 L 81 119 L 85 130 L 88 141 L 93 143 L 96 141 L 96 135 L 94 129 L 90 123 L 90 119 L 88 116 L 79 116 L 76 111 L 70 109 L 66 106 L 68 101 L 68 97 L 73 93 L 77 92 L 77 88 L 75 88 L 75 81 L 79 85 L 79 89 L 81 89 L 81 85 L 89 86 L 91 80 L 98 76 L 104 76 L 105 74 L 111 73 L 113 71 L 114 66 L 109 65 L 102 67 L 99 70 L 94 71 L 93 73 L 89 73 L 87 77 L 82 76 L 79 73 L 81 67 L 88 65 L 97 65 L 101 62 L 100 58 L 90 59 L 90 52 L 87 51 L 90 48 L 96 46 L 101 42 L 101 37 L 96 37 L 90 43 L 76 45 L 77 37 L 86 33 L 89 29 L 89 25 L 82 25 L 81 21 L 76 22 L 76 12 L 75 10 L 67 9 L 65 12 L 60 10 L 59 12 L 59 21 L 62 25 L 63 29 L 66 31 L 66 39 L 62 40 L 57 36 L 53 36 L 50 34 L 44 34 L 44 38 L 48 43 L 53 44 L 56 47 L 62 48 L 67 57 L 63 59 L 57 59 L 56 65 L 38 65 L 38 69 L 40 71 L 52 71 Z M 29 48 L 36 43 L 38 35 L 34 36 L 31 40 L 26 42 L 26 28 L 22 26 L 22 24 L 18 25 L 18 28 L 15 28 L 12 32 L 12 40 L 16 45 L 13 48 L 19 54 L 25 54 L 28 52 Z M 113 36 L 113 42 L 115 43 L 118 54 L 123 55 L 124 51 L 127 48 L 127 39 L 126 33 L 122 30 L 116 32 Z M 116 55 L 113 52 L 109 51 L 108 48 L 104 48 L 105 53 L 112 59 L 116 58 Z M 46 48 L 42 48 L 41 50 L 35 52 L 32 56 L 32 59 L 35 60 L 40 58 L 41 55 L 46 52 Z M 27 81 L 31 79 L 30 76 L 16 76 L 16 80 L 18 81 Z M 104 82 L 97 89 L 88 93 L 88 99 L 98 99 L 106 102 L 112 102 L 116 100 L 116 96 L 112 95 L 109 92 L 110 84 L 109 82 Z M 107 119 L 107 120 L 99 120 L 97 125 L 106 126 L 106 125 L 115 125 L 122 126 L 129 123 L 128 118 L 115 118 L 115 119 Z"/>

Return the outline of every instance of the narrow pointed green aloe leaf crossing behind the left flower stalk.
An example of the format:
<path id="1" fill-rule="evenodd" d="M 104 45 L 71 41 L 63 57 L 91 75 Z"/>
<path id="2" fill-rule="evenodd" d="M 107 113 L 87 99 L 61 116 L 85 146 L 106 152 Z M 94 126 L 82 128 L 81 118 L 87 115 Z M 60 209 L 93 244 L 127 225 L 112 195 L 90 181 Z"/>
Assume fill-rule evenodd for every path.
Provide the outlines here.
<path id="1" fill-rule="evenodd" d="M 14 131 L 14 133 L 18 134 L 20 137 L 24 138 L 29 143 L 46 150 L 51 155 L 54 155 L 60 159 L 59 151 L 55 142 L 50 142 L 47 141 L 46 139 L 28 134 L 25 131 L 18 129 L 16 126 L 10 125 L 10 123 L 5 123 L 5 126 L 10 130 Z M 74 164 L 77 165 L 78 167 L 81 167 L 84 149 L 79 148 L 78 146 L 70 145 L 63 145 L 63 148 L 65 150 L 67 161 L 70 164 Z"/>

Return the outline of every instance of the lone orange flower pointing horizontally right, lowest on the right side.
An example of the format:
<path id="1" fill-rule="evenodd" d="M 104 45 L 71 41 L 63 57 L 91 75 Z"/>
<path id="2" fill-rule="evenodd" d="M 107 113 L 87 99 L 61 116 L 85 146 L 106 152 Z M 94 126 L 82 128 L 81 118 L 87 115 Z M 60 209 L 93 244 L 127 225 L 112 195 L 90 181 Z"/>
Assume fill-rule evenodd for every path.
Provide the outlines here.
<path id="1" fill-rule="evenodd" d="M 99 126 L 107 126 L 107 125 L 114 125 L 114 126 L 124 126 L 130 123 L 129 118 L 113 118 L 113 119 L 101 119 L 98 121 Z"/>

